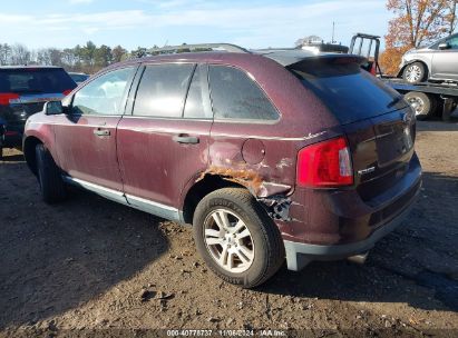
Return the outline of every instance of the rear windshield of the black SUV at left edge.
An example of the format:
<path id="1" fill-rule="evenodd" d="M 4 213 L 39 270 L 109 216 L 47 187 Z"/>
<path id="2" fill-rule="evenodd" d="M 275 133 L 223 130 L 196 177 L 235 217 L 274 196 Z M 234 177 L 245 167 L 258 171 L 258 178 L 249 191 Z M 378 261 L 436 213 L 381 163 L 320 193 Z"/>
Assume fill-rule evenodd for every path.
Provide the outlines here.
<path id="1" fill-rule="evenodd" d="M 57 93 L 76 86 L 61 68 L 0 69 L 0 92 Z"/>

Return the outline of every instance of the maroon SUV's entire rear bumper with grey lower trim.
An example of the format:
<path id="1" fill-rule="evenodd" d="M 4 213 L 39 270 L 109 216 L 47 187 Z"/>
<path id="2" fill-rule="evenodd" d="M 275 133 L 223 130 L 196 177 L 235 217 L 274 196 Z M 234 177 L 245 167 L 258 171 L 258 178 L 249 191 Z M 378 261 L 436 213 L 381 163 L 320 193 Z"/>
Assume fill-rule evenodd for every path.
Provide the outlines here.
<path id="1" fill-rule="evenodd" d="M 420 189 L 421 166 L 416 155 L 402 179 L 370 199 L 363 200 L 351 189 L 296 189 L 291 221 L 277 222 L 289 269 L 300 270 L 312 260 L 338 260 L 368 251 L 402 222 Z"/>

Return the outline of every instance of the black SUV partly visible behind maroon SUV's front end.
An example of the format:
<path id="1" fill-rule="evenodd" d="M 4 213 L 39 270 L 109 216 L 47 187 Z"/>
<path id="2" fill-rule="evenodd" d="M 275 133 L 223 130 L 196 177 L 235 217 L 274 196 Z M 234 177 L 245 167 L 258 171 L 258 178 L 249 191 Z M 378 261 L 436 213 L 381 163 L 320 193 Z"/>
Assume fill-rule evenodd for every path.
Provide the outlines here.
<path id="1" fill-rule="evenodd" d="M 20 147 L 23 126 L 32 113 L 41 111 L 46 101 L 60 100 L 77 84 L 58 67 L 0 67 L 0 121 L 3 121 L 1 148 Z"/>

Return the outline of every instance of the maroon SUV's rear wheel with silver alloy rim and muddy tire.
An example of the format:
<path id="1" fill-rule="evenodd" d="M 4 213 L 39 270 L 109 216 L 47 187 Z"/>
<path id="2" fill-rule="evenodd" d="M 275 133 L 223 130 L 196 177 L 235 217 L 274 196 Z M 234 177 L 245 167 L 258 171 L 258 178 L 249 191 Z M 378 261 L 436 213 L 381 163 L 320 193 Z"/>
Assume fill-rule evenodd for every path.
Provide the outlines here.
<path id="1" fill-rule="evenodd" d="M 222 225 L 222 215 L 228 221 L 228 231 L 218 227 L 216 219 Z M 198 252 L 213 272 L 227 282 L 243 288 L 256 287 L 271 278 L 284 262 L 279 228 L 243 188 L 224 188 L 205 196 L 194 212 L 193 225 Z M 231 236 L 233 238 L 227 239 Z M 222 259 L 224 248 L 227 259 Z M 217 261 L 218 254 L 221 261 L 226 260 L 225 265 Z"/>

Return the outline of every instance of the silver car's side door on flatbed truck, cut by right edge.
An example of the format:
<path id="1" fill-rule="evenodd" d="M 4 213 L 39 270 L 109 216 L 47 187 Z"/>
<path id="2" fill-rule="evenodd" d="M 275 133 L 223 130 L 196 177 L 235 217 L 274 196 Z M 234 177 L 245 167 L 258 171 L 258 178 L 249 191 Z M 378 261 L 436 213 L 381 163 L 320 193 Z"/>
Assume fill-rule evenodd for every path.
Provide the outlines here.
<path id="1" fill-rule="evenodd" d="M 437 49 L 432 58 L 432 76 L 439 79 L 458 80 L 458 36 L 448 38 L 449 49 Z"/>

